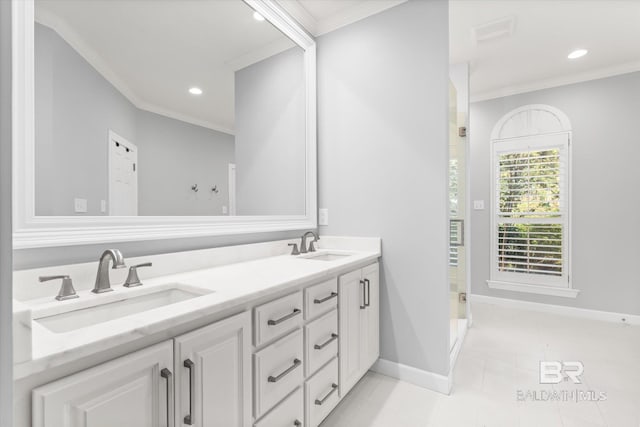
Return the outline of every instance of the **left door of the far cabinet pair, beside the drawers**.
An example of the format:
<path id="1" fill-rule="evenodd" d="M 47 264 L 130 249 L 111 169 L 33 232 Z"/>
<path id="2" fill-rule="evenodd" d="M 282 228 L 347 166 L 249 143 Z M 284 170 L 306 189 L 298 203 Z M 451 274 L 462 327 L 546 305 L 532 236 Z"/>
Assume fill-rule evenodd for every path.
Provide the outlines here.
<path id="1" fill-rule="evenodd" d="M 338 285 L 338 354 L 340 356 L 340 396 L 347 394 L 361 377 L 360 335 L 364 307 L 361 271 L 340 276 Z"/>

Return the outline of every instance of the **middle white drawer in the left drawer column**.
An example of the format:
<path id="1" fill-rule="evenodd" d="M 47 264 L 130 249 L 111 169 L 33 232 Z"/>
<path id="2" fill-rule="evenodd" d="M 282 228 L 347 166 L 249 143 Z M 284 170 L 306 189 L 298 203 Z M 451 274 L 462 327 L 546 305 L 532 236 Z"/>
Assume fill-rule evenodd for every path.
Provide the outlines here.
<path id="1" fill-rule="evenodd" d="M 253 403 L 256 418 L 302 384 L 302 341 L 302 330 L 298 329 L 253 355 Z"/>

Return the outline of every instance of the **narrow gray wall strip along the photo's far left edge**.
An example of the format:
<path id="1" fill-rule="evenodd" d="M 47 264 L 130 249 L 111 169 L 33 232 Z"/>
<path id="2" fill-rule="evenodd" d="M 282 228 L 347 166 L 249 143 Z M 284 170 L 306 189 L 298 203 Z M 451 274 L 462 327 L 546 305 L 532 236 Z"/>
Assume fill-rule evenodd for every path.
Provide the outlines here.
<path id="1" fill-rule="evenodd" d="M 11 2 L 0 1 L 0 427 L 13 425 Z"/>

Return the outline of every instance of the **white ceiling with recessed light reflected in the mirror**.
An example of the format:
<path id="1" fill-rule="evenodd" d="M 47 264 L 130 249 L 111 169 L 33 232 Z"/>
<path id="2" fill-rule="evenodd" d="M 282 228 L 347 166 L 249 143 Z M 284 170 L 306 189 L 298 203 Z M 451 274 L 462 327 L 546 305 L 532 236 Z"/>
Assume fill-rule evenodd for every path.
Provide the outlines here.
<path id="1" fill-rule="evenodd" d="M 229 133 L 234 71 L 294 46 L 239 0 L 37 0 L 36 21 L 138 108 Z"/>

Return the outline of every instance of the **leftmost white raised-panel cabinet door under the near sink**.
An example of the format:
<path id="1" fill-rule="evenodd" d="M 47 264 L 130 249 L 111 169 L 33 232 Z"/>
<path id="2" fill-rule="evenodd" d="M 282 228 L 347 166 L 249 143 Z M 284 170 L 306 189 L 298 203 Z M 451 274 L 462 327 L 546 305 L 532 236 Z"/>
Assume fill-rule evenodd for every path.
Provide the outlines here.
<path id="1" fill-rule="evenodd" d="M 34 427 L 166 427 L 173 392 L 167 341 L 33 390 Z"/>

